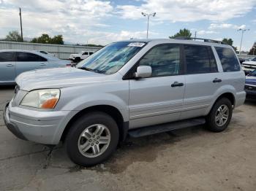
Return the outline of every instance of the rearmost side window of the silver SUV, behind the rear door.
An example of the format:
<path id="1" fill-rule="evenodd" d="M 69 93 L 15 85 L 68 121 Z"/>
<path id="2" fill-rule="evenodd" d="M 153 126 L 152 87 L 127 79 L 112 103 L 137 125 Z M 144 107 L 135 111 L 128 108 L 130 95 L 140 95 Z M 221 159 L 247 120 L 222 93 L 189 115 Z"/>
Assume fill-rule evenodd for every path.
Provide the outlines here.
<path id="1" fill-rule="evenodd" d="M 222 63 L 223 71 L 240 71 L 240 64 L 233 50 L 224 47 L 215 47 L 215 49 Z"/>

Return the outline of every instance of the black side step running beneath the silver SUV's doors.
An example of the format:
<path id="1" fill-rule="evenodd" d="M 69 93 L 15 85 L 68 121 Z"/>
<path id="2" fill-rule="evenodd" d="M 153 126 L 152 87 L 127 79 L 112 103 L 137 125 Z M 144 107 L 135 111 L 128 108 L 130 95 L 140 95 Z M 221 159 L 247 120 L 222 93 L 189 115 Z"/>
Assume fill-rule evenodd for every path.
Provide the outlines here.
<path id="1" fill-rule="evenodd" d="M 161 125 L 152 125 L 144 128 L 136 128 L 129 130 L 128 134 L 131 137 L 149 136 L 157 133 L 163 133 L 169 130 L 175 130 L 180 128 L 188 128 L 196 125 L 203 125 L 206 123 L 204 118 L 195 118 L 189 120 L 181 120 L 178 122 L 168 122 Z"/>

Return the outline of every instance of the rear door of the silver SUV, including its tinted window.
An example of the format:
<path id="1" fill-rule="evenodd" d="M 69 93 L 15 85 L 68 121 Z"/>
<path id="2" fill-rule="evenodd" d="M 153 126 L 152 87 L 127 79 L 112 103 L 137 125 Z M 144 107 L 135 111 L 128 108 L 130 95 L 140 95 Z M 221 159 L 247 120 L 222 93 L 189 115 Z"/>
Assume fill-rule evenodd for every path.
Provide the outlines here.
<path id="1" fill-rule="evenodd" d="M 181 119 L 203 116 L 222 85 L 217 61 L 211 46 L 184 44 L 184 108 Z"/>

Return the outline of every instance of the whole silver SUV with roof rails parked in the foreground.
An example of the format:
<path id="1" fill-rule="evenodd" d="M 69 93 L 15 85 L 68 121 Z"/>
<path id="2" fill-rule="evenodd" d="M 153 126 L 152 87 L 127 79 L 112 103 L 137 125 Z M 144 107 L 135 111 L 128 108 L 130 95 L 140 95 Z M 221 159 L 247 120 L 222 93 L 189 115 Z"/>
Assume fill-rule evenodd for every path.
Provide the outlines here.
<path id="1" fill-rule="evenodd" d="M 78 165 L 106 160 L 127 135 L 206 123 L 225 130 L 244 103 L 245 76 L 233 50 L 184 39 L 115 42 L 76 68 L 20 74 L 4 109 L 20 139 L 64 141 Z"/>

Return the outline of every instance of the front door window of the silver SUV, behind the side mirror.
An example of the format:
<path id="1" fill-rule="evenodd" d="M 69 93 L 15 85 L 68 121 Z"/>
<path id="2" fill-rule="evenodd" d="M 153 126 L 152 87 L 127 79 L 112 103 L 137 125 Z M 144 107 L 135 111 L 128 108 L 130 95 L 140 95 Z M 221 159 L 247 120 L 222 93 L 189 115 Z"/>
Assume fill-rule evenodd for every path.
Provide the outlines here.
<path id="1" fill-rule="evenodd" d="M 152 77 L 171 76 L 180 73 L 179 45 L 161 45 L 150 50 L 139 66 L 151 66 Z"/>

